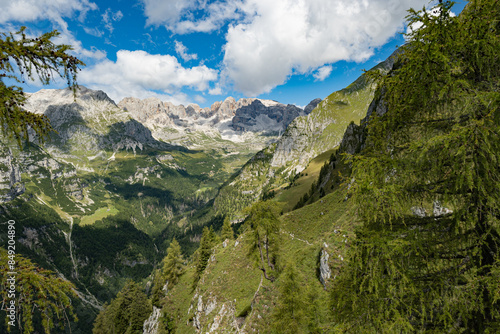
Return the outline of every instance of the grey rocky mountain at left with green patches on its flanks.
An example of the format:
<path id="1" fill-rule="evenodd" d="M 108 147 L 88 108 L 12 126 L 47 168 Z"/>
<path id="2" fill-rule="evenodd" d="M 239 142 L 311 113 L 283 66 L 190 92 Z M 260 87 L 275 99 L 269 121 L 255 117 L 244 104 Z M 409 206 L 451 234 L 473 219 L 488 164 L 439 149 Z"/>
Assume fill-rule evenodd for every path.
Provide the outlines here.
<path id="1" fill-rule="evenodd" d="M 147 117 L 153 105 L 158 108 L 152 99 L 143 103 L 130 98 L 128 103 L 132 111 L 142 108 L 142 114 L 136 113 L 139 116 Z M 131 117 L 133 112 L 124 112 L 102 91 L 81 87 L 75 97 L 68 89 L 41 90 L 28 95 L 26 109 L 49 118 L 57 133 L 51 136 L 47 145 L 57 150 L 72 148 L 97 153 L 107 148 L 135 152 L 144 146 L 162 146 L 140 120 Z M 174 108 L 174 111 L 178 110 Z M 154 119 L 154 122 L 159 121 Z"/>

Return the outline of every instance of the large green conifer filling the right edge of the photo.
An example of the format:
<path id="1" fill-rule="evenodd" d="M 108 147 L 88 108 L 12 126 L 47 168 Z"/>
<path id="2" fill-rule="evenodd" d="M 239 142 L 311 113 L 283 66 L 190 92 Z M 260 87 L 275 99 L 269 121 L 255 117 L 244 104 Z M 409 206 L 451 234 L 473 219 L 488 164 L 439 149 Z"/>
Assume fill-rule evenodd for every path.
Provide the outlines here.
<path id="1" fill-rule="evenodd" d="M 363 224 L 332 293 L 346 331 L 500 331 L 500 6 L 422 22 L 381 78 L 362 155 Z"/>

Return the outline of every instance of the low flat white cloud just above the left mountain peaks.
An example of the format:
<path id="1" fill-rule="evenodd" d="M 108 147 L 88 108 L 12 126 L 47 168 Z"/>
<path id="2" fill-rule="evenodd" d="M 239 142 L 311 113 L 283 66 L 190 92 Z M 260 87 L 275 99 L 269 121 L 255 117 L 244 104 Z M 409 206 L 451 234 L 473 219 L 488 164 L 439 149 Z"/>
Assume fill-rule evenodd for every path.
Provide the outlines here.
<path id="1" fill-rule="evenodd" d="M 127 96 L 157 96 L 177 103 L 186 102 L 182 88 L 205 91 L 217 78 L 218 72 L 205 65 L 185 68 L 170 55 L 127 50 L 116 53 L 116 62 L 106 59 L 79 76 L 82 84 L 106 91 L 115 101 Z"/>

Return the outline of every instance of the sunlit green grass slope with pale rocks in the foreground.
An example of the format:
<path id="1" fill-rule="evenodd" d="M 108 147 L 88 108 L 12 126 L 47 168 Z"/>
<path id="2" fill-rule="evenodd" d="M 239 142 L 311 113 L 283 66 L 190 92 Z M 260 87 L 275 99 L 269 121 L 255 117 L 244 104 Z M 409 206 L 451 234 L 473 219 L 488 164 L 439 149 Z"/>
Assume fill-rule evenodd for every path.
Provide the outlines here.
<path id="1" fill-rule="evenodd" d="M 353 237 L 356 214 L 345 201 L 345 188 L 337 188 L 320 201 L 281 217 L 278 266 L 293 263 L 300 273 L 303 303 L 313 298 L 318 325 L 335 326 L 328 317 L 328 288 L 343 263 Z M 272 333 L 282 275 L 275 282 L 263 278 L 249 256 L 251 238 L 243 232 L 236 240 L 219 243 L 200 281 L 193 288 L 195 266 L 188 264 L 180 281 L 162 300 L 163 317 L 171 317 L 176 333 Z M 329 254 L 331 279 L 326 289 L 318 278 L 319 258 Z"/>

